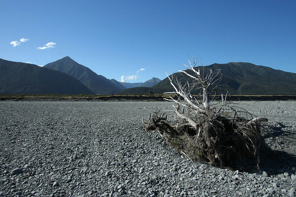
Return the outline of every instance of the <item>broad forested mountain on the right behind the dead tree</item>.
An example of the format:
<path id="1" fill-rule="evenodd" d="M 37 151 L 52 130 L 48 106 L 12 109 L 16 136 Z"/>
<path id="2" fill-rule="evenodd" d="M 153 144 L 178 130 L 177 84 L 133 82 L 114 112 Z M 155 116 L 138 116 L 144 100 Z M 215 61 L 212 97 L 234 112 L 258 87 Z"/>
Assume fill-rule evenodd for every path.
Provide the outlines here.
<path id="1" fill-rule="evenodd" d="M 196 68 L 197 69 L 197 68 Z M 202 69 L 200 67 L 200 69 Z M 275 70 L 266 66 L 258 66 L 246 62 L 229 62 L 227 64 L 212 64 L 204 67 L 205 74 L 220 69 L 219 77 L 220 89 L 228 89 L 231 95 L 296 95 L 296 74 Z M 193 72 L 186 70 L 189 74 Z M 185 84 L 191 81 L 188 77 L 178 73 L 173 74 L 174 78 Z M 170 75 L 171 78 L 171 75 Z M 136 94 L 139 91 L 141 94 L 149 94 L 150 91 L 154 93 L 164 93 L 173 91 L 168 78 L 163 79 L 150 89 L 125 89 L 119 93 L 121 94 Z M 220 93 L 225 94 L 226 91 Z M 199 94 L 199 92 L 193 92 Z"/>

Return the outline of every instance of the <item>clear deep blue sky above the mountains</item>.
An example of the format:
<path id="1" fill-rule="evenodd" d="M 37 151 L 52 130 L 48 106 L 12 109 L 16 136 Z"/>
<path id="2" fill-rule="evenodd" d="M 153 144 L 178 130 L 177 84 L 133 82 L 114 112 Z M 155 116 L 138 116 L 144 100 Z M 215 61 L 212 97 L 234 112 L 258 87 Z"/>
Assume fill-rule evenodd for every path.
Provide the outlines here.
<path id="1" fill-rule="evenodd" d="M 132 82 L 164 79 L 185 69 L 188 54 L 205 65 L 241 61 L 296 73 L 292 0 L 0 3 L 0 58 L 9 61 L 45 65 L 69 56 L 127 82 L 137 72 Z"/>

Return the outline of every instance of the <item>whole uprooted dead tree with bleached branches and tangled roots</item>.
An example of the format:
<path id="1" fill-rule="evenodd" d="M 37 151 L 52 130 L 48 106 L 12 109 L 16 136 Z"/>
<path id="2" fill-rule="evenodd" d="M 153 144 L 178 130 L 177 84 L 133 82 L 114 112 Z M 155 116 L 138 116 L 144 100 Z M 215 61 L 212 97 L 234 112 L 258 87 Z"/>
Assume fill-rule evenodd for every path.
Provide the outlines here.
<path id="1" fill-rule="evenodd" d="M 268 121 L 248 113 L 243 108 L 232 106 L 221 95 L 215 98 L 221 80 L 220 70 L 200 69 L 198 59 L 191 62 L 187 56 L 187 70 L 179 72 L 189 80 L 169 76 L 173 92 L 168 101 L 173 101 L 175 118 L 168 121 L 165 113 L 150 114 L 146 131 L 156 130 L 172 146 L 192 160 L 207 162 L 217 167 L 234 167 L 251 162 L 259 164 L 259 151 L 266 148 L 261 137 Z M 181 82 L 182 81 L 182 82 Z M 192 92 L 200 92 L 192 95 Z M 211 97 L 209 97 L 211 96 Z M 211 100 L 209 100 L 211 98 Z M 173 121 L 173 123 L 170 123 Z"/>

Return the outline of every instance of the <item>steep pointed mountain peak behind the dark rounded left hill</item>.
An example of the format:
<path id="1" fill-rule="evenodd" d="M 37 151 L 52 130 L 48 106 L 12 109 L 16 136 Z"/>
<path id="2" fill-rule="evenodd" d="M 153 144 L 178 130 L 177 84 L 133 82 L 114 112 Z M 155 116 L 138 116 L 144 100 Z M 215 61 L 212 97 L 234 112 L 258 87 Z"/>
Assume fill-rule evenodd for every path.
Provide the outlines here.
<path id="1" fill-rule="evenodd" d="M 111 94 L 122 90 L 106 77 L 96 74 L 91 69 L 78 64 L 68 56 L 46 64 L 43 67 L 61 71 L 75 77 L 96 94 Z"/>

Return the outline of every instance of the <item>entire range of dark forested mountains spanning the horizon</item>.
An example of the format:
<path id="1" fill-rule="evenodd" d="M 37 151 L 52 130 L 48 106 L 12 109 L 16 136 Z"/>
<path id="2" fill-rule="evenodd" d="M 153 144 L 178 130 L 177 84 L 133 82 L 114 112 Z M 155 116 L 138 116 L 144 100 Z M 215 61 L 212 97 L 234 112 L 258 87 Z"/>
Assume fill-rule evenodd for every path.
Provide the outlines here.
<path id="1" fill-rule="evenodd" d="M 209 69 L 220 69 L 220 89 L 224 89 L 222 93 L 227 89 L 231 95 L 296 95 L 295 73 L 246 62 L 205 66 L 205 74 Z M 192 74 L 191 71 L 189 73 Z M 183 85 L 191 81 L 179 72 L 173 76 Z M 153 77 L 144 83 L 118 82 L 96 74 L 68 56 L 43 67 L 0 59 L 0 93 L 162 94 L 171 91 L 173 87 L 168 78 L 161 81 Z"/>

